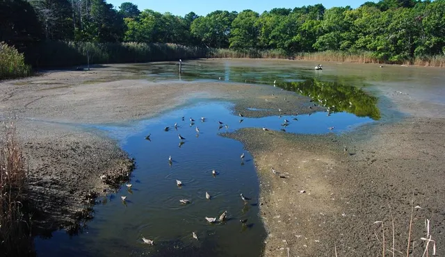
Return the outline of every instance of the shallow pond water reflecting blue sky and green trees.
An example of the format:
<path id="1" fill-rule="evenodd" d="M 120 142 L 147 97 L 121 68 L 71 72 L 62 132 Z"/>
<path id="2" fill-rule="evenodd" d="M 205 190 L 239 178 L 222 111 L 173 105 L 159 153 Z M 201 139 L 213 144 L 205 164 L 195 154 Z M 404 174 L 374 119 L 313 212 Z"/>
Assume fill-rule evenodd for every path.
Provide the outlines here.
<path id="1" fill-rule="evenodd" d="M 95 126 L 116 138 L 136 159 L 131 189 L 122 185 L 118 192 L 98 199 L 94 219 L 78 235 L 56 231 L 51 239 L 35 238 L 39 256 L 260 256 L 266 231 L 259 217 L 254 160 L 241 142 L 220 133 L 261 127 L 286 133 L 343 133 L 380 119 L 375 97 L 355 85 L 311 78 L 310 74 L 317 76 L 312 69 L 302 67 L 292 73 L 285 66 L 271 71 L 261 65 L 218 65 L 204 69 L 200 61 L 190 62 L 181 78 L 171 63 L 136 65 L 135 69 L 154 81 L 219 80 L 218 74 L 223 73 L 221 80 L 227 83 L 248 80 L 270 87 L 271 78 L 278 74 L 275 86 L 311 97 L 308 106 L 329 109 L 312 115 L 250 118 L 234 114 L 234 103 L 200 99 L 152 119 Z M 185 139 L 180 140 L 179 134 Z M 184 185 L 178 187 L 176 180 Z M 211 199 L 206 199 L 206 192 Z M 250 200 L 243 201 L 241 193 Z M 122 201 L 122 196 L 127 199 Z M 181 204 L 180 199 L 190 204 Z M 224 211 L 227 219 L 223 222 L 211 224 L 204 219 L 219 217 Z M 155 245 L 143 244 L 143 237 Z"/>

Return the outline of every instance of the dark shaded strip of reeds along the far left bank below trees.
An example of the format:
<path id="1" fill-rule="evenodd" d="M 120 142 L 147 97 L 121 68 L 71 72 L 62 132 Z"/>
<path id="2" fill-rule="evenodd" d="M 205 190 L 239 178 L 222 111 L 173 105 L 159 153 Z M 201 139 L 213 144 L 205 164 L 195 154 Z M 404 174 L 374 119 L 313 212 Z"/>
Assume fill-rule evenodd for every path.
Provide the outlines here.
<path id="1" fill-rule="evenodd" d="M 204 58 L 206 50 L 179 44 L 44 41 L 26 50 L 33 67 L 68 67 L 104 63 L 142 63 Z"/>

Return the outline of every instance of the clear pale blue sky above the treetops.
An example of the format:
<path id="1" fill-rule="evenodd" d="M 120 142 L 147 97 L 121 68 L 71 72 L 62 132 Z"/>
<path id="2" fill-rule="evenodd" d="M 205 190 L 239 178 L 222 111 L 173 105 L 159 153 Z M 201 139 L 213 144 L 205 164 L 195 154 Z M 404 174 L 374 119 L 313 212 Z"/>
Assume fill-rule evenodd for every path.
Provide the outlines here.
<path id="1" fill-rule="evenodd" d="M 237 12 L 241 12 L 245 9 L 254 10 L 261 14 L 264 10 L 273 8 L 313 6 L 316 3 L 322 3 L 325 8 L 331 8 L 333 6 L 351 6 L 352 8 L 357 8 L 365 1 L 366 0 L 107 0 L 107 3 L 112 3 L 113 6 L 117 7 L 123 2 L 131 2 L 136 4 L 139 10 L 152 9 L 159 13 L 170 12 L 174 15 L 184 16 L 191 11 L 197 15 L 207 15 L 207 13 L 211 13 L 213 10 L 236 10 Z"/>

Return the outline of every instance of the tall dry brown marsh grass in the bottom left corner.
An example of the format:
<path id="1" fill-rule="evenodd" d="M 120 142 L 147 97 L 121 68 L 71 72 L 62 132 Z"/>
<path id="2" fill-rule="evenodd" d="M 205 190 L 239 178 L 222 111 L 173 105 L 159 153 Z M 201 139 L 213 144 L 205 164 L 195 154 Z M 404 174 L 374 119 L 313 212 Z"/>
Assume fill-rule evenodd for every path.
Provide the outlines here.
<path id="1" fill-rule="evenodd" d="M 14 123 L 6 127 L 0 147 L 0 253 L 33 256 L 31 219 L 24 214 L 26 168 Z"/>

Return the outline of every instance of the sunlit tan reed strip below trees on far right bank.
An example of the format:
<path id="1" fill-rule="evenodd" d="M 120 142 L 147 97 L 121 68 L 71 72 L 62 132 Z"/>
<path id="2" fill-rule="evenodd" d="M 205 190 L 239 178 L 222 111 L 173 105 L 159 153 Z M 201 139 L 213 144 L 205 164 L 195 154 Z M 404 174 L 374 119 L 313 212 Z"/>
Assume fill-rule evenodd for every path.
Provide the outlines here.
<path id="1" fill-rule="evenodd" d="M 413 59 L 390 61 L 377 58 L 373 52 L 369 51 L 320 51 L 314 53 L 286 53 L 278 49 L 273 50 L 241 50 L 232 49 L 212 49 L 212 58 L 279 58 L 295 60 L 324 60 L 328 62 L 346 63 L 387 63 L 400 65 L 419 65 L 445 67 L 445 56 L 423 56 Z"/>

